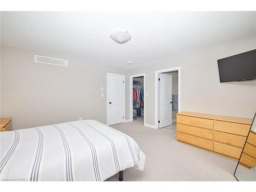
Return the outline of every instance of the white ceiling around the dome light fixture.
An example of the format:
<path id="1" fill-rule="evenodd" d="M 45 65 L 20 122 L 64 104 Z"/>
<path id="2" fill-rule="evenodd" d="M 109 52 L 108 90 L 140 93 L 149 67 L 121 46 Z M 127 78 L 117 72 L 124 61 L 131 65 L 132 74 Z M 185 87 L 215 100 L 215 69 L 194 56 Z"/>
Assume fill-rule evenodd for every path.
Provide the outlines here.
<path id="1" fill-rule="evenodd" d="M 1 12 L 2 45 L 127 69 L 255 36 L 256 12 Z"/>

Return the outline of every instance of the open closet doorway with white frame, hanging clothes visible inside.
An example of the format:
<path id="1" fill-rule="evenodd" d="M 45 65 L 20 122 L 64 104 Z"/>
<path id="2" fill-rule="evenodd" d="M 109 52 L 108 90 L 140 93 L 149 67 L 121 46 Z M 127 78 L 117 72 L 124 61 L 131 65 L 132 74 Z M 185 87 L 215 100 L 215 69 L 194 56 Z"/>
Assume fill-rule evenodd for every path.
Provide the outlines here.
<path id="1" fill-rule="evenodd" d="M 130 121 L 145 124 L 145 74 L 130 76 Z"/>

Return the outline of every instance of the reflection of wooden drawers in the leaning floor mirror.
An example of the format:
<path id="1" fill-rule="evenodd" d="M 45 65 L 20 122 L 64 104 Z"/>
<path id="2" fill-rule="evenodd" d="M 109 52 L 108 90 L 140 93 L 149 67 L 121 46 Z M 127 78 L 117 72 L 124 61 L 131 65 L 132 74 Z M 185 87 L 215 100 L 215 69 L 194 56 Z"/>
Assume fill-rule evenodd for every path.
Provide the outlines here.
<path id="1" fill-rule="evenodd" d="M 250 131 L 249 133 L 239 163 L 242 163 L 250 168 L 253 168 L 256 165 L 256 133 L 253 131 Z"/>

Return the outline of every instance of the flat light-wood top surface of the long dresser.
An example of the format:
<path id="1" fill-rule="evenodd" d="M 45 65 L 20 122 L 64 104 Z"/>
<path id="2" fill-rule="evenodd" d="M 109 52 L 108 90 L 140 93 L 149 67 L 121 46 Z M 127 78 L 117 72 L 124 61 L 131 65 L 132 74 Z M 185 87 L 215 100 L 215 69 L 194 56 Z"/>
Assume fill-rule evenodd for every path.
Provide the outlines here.
<path id="1" fill-rule="evenodd" d="M 249 125 L 252 123 L 252 119 L 247 119 L 247 118 L 210 115 L 210 114 L 194 113 L 194 112 L 186 112 L 186 111 L 177 113 L 177 115 L 199 117 L 199 118 L 205 118 L 205 119 L 214 119 L 214 120 L 220 120 L 220 121 L 229 121 L 229 122 L 243 123 L 243 124 L 249 124 Z"/>

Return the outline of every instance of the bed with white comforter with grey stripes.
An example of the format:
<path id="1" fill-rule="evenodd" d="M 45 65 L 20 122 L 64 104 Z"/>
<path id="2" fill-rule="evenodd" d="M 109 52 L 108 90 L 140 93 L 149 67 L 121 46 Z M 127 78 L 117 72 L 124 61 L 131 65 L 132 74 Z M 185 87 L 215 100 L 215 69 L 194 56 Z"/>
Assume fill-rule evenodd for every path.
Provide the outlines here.
<path id="1" fill-rule="evenodd" d="M 1 181 L 104 181 L 145 155 L 128 135 L 96 120 L 0 133 Z"/>

